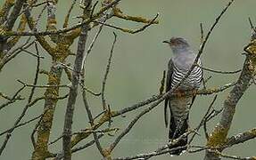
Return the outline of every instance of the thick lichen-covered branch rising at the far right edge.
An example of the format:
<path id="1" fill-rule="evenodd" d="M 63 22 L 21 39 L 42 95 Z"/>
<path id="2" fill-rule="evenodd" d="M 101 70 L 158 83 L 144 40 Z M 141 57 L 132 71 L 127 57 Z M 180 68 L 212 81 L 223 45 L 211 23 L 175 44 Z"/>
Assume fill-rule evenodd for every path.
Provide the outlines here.
<path id="1" fill-rule="evenodd" d="M 252 47 L 255 47 L 255 45 L 252 45 L 251 49 Z M 251 65 L 253 65 L 252 63 L 250 63 L 250 61 L 253 59 L 255 59 L 253 57 L 253 54 L 246 55 L 242 73 L 239 76 L 237 83 L 235 84 L 232 91 L 229 92 L 227 99 L 224 101 L 224 110 L 222 112 L 221 119 L 219 120 L 219 124 L 216 125 L 213 132 L 211 132 L 211 136 L 207 142 L 208 147 L 221 148 L 223 145 L 225 145 L 227 132 L 229 131 L 235 114 L 236 104 L 244 95 L 244 92 L 247 90 L 247 88 L 250 86 L 250 81 L 252 79 L 252 72 L 250 68 L 252 68 Z M 221 149 L 219 151 L 221 152 Z M 216 155 L 210 150 L 207 150 L 204 159 L 218 159 L 218 157 L 219 155 Z"/>

